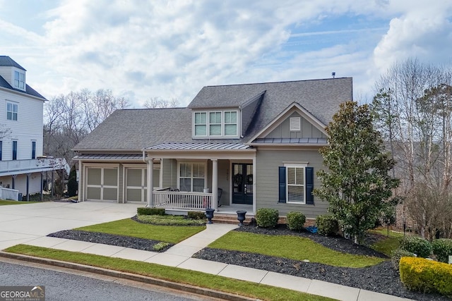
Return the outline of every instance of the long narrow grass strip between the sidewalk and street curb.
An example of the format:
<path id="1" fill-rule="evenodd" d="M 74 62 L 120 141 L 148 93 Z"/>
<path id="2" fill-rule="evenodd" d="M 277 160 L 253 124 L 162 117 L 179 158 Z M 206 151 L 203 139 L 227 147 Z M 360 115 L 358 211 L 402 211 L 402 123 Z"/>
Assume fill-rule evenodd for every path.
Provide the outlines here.
<path id="1" fill-rule="evenodd" d="M 97 266 L 104 269 L 124 271 L 143 276 L 149 276 L 166 281 L 195 285 L 212 290 L 220 290 L 226 293 L 236 293 L 259 300 L 285 301 L 307 300 L 326 301 L 333 300 L 328 297 L 309 295 L 295 290 L 276 288 L 270 285 L 251 283 L 237 279 L 226 278 L 217 275 L 206 274 L 198 271 L 179 269 L 172 266 L 136 262 L 129 259 L 105 257 L 81 252 L 69 252 L 64 250 L 35 247 L 31 245 L 15 245 L 5 250 L 6 252 L 25 254 L 34 257 L 56 259 L 64 262 L 73 262 L 89 266 Z"/>

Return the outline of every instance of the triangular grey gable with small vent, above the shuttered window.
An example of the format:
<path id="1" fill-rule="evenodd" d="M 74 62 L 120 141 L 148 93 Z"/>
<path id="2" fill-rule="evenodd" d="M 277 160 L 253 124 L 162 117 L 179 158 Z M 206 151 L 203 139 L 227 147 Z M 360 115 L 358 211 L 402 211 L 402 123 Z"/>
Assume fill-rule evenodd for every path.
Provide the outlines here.
<path id="1" fill-rule="evenodd" d="M 293 112 L 263 138 L 326 138 L 326 134 L 303 118 L 301 113 Z"/>

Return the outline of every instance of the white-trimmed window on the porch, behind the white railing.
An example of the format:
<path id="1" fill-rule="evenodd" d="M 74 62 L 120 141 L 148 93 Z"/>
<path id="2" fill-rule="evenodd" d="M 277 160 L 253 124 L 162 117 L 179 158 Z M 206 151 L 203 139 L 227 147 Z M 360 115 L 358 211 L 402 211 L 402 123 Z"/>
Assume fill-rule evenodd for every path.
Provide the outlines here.
<path id="1" fill-rule="evenodd" d="M 203 192 L 206 187 L 206 164 L 204 162 L 179 163 L 179 190 Z"/>

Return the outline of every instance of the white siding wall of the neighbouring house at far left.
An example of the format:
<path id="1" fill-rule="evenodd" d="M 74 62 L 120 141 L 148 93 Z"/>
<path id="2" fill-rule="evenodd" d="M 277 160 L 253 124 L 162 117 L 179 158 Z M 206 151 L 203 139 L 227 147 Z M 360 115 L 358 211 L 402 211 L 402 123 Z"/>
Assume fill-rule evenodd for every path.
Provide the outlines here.
<path id="1" fill-rule="evenodd" d="M 17 121 L 6 119 L 6 104 L 18 105 Z M 42 109 L 43 100 L 25 97 L 20 93 L 0 90 L 0 123 L 9 130 L 6 137 L 1 137 L 2 160 L 13 159 L 13 141 L 17 141 L 17 159 L 29 160 L 32 157 L 32 141 L 36 142 L 36 156 L 42 156 Z"/>

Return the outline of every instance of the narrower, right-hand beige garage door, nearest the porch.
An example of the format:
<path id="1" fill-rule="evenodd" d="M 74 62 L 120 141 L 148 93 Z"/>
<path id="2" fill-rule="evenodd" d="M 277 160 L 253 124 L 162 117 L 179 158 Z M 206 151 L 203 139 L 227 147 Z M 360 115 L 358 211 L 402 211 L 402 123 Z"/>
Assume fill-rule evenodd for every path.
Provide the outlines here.
<path id="1" fill-rule="evenodd" d="M 146 202 L 146 168 L 126 169 L 126 201 Z"/>

